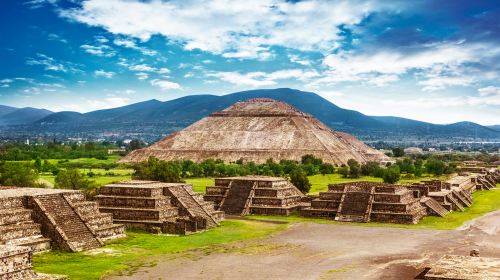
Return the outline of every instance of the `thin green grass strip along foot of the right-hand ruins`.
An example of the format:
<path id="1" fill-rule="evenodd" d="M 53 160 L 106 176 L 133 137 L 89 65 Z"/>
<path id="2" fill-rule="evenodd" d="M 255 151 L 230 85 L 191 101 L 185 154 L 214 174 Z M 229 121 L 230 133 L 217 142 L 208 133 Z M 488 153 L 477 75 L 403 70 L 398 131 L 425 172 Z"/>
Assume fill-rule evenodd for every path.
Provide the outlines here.
<path id="1" fill-rule="evenodd" d="M 289 223 L 313 222 L 313 223 L 324 223 L 324 224 L 332 223 L 338 225 L 357 225 L 357 226 L 368 226 L 368 227 L 449 230 L 449 229 L 456 229 L 471 219 L 478 218 L 492 211 L 500 210 L 499 187 L 500 184 L 497 184 L 496 189 L 492 189 L 489 191 L 477 191 L 473 193 L 472 197 L 474 202 L 472 203 L 472 206 L 466 208 L 465 211 L 463 212 L 454 211 L 446 215 L 445 217 L 426 216 L 420 221 L 420 223 L 416 225 L 404 225 L 404 224 L 392 224 L 392 223 L 343 223 L 343 222 L 336 222 L 330 219 L 304 218 L 298 215 L 291 215 L 291 216 L 251 215 L 248 216 L 248 218 L 257 221 L 279 221 L 279 222 L 289 222 Z"/>

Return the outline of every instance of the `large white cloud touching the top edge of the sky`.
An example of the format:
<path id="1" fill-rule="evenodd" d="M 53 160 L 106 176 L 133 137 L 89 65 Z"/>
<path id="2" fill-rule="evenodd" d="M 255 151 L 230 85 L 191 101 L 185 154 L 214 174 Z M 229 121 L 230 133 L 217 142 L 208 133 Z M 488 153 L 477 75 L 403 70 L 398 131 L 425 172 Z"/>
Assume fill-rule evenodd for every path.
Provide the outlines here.
<path id="1" fill-rule="evenodd" d="M 159 34 L 187 50 L 263 58 L 271 55 L 269 46 L 328 52 L 339 46 L 339 26 L 389 6 L 398 8 L 375 0 L 89 0 L 60 14 L 143 41 Z"/>

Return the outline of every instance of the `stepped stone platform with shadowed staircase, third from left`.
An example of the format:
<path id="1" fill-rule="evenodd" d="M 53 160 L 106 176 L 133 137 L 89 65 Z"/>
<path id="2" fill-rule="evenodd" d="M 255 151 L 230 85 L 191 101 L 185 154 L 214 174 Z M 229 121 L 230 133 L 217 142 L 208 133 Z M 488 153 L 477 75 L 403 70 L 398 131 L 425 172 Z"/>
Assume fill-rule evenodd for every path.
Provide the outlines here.
<path id="1" fill-rule="evenodd" d="M 284 178 L 245 176 L 216 178 L 207 187 L 205 201 L 229 215 L 289 215 L 306 196 Z"/>

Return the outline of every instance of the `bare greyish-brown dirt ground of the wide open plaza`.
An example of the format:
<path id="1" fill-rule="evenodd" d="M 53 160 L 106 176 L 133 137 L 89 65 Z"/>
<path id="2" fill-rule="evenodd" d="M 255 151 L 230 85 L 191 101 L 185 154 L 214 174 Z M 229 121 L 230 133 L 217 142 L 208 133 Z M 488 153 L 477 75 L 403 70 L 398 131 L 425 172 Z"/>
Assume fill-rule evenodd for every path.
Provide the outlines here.
<path id="1" fill-rule="evenodd" d="M 299 223 L 275 236 L 158 258 L 113 279 L 414 279 L 444 254 L 500 257 L 500 211 L 458 230 Z"/>

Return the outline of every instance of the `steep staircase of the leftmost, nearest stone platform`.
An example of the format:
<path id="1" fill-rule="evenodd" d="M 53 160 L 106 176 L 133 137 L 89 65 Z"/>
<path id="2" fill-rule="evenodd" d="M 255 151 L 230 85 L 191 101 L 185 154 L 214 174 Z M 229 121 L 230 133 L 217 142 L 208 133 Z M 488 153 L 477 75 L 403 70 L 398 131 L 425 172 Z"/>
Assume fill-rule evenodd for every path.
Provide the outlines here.
<path id="1" fill-rule="evenodd" d="M 37 196 L 34 203 L 42 210 L 48 222 L 48 232 L 55 235 L 58 246 L 73 252 L 101 247 L 103 243 L 94 236 L 92 230 L 71 207 L 62 194 Z"/>

